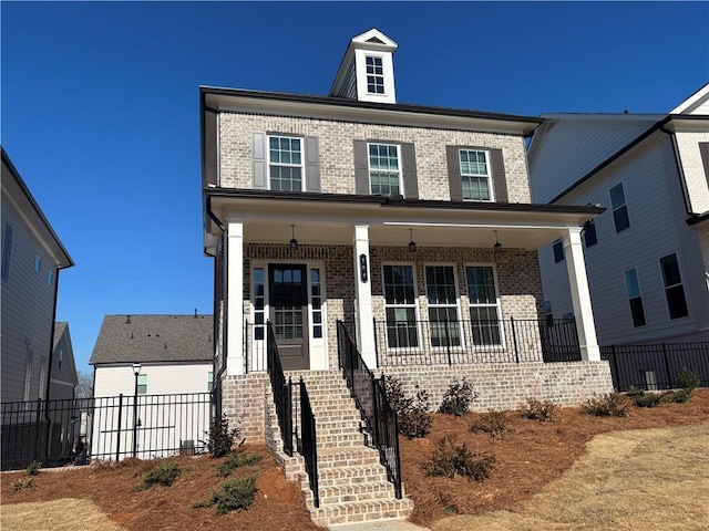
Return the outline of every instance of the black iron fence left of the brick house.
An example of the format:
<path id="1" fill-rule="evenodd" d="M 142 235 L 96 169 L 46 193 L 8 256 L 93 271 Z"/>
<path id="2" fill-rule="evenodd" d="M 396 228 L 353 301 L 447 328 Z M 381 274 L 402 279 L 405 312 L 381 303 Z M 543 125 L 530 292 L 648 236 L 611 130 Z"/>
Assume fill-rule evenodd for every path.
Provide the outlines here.
<path id="1" fill-rule="evenodd" d="M 2 404 L 2 469 L 206 451 L 209 393 Z"/>

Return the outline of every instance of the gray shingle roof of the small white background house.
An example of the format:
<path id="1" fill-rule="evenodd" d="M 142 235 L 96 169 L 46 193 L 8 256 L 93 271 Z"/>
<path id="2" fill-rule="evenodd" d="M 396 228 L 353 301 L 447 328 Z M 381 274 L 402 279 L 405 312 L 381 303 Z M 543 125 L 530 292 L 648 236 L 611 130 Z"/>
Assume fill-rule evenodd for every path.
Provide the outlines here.
<path id="1" fill-rule="evenodd" d="M 212 315 L 106 315 L 89 363 L 208 362 Z"/>

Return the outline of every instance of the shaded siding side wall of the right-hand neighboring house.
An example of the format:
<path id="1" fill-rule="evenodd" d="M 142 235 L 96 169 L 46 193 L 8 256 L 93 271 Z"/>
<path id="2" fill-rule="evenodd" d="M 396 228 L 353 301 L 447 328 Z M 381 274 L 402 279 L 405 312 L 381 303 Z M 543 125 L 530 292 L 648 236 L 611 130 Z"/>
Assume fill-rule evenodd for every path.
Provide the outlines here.
<path id="1" fill-rule="evenodd" d="M 658 134 L 660 135 L 660 134 Z M 623 183 L 630 228 L 615 231 L 608 190 Z M 582 185 L 569 202 L 600 204 L 607 210 L 595 220 L 598 243 L 585 249 L 587 274 L 599 344 L 681 337 L 706 330 L 709 303 L 697 231 L 687 227 L 679 177 L 669 136 L 649 140 L 645 149 L 626 156 Z M 554 264 L 551 248 L 540 251 L 545 299 L 554 316 L 571 308 L 565 263 Z M 659 258 L 676 252 L 685 283 L 690 316 L 670 321 Z M 549 262 L 551 261 L 551 262 Z M 634 327 L 624 271 L 636 268 L 643 293 L 646 326 Z M 565 273 L 565 271 L 564 271 Z"/>

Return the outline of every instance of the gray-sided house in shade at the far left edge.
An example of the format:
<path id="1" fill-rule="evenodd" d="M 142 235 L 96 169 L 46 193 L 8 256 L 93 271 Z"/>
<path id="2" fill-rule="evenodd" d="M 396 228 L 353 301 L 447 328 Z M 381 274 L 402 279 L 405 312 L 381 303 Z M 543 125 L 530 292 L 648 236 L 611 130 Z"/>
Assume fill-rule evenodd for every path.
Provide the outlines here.
<path id="1" fill-rule="evenodd" d="M 59 272 L 74 266 L 61 240 L 2 149 L 2 460 L 21 459 L 37 423 L 12 403 L 50 396 Z M 25 409 L 24 406 L 21 406 Z M 10 413 L 12 412 L 12 413 Z M 32 417 L 34 419 L 34 417 Z M 38 456 L 47 449 L 47 423 Z M 11 447 L 13 444 L 17 447 Z"/>

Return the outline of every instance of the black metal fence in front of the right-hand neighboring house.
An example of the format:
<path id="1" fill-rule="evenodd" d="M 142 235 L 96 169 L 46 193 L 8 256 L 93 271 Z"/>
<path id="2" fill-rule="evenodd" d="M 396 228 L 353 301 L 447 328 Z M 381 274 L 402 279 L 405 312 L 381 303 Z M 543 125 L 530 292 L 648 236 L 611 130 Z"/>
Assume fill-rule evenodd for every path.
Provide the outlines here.
<path id="1" fill-rule="evenodd" d="M 709 342 L 602 346 L 600 358 L 608 361 L 618 392 L 631 386 L 647 391 L 679 387 L 677 376 L 682 368 L 698 375 L 702 387 L 709 386 Z"/>

